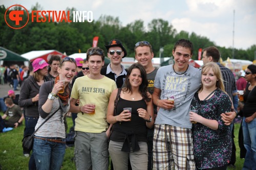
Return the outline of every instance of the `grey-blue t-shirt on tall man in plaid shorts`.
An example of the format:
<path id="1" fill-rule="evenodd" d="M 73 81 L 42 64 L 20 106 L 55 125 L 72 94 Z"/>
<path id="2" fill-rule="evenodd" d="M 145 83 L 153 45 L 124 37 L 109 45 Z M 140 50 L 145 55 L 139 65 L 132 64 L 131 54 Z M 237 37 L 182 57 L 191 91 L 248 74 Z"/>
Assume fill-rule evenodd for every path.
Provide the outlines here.
<path id="1" fill-rule="evenodd" d="M 191 129 L 190 103 L 201 86 L 201 69 L 189 65 L 185 74 L 178 75 L 174 72 L 173 65 L 162 66 L 157 71 L 154 86 L 161 90 L 161 100 L 166 99 L 167 95 L 175 98 L 173 109 L 159 109 L 155 124 Z"/>

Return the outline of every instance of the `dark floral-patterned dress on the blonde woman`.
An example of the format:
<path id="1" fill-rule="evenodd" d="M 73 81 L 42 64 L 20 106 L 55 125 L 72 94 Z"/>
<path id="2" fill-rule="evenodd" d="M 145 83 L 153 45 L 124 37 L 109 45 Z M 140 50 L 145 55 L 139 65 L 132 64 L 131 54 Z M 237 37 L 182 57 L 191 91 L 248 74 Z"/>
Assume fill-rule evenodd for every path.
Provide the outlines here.
<path id="1" fill-rule="evenodd" d="M 200 101 L 198 93 L 191 102 L 191 110 L 207 119 L 217 120 L 218 130 L 212 130 L 200 123 L 193 124 L 194 155 L 197 169 L 220 167 L 227 164 L 231 157 L 232 141 L 229 126 L 225 126 L 221 113 L 230 112 L 231 102 L 228 95 L 217 89 L 206 101 Z"/>

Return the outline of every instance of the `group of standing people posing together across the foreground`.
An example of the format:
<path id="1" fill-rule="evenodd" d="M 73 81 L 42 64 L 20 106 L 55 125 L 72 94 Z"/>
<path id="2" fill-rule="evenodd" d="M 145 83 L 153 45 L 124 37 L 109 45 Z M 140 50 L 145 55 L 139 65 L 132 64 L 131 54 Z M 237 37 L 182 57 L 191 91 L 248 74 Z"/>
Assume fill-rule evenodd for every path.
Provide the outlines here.
<path id="1" fill-rule="evenodd" d="M 66 147 L 63 122 L 69 111 L 77 115 L 77 169 L 108 169 L 109 155 L 112 168 L 118 170 L 226 169 L 232 148 L 229 125 L 236 111 L 227 91 L 233 90 L 232 77 L 223 81 L 227 76 L 217 63 L 220 55 L 210 53 L 218 49 L 206 48 L 204 66 L 198 69 L 188 64 L 193 44 L 180 39 L 173 50 L 175 63 L 157 69 L 151 44 L 140 41 L 135 44 L 138 63 L 126 70 L 121 65 L 127 55 L 122 42 L 114 39 L 105 47 L 111 63 L 102 68 L 104 51 L 91 47 L 82 61 L 82 70 L 89 71 L 80 77 L 80 60 L 61 59 L 51 81 L 49 64 L 33 61 L 34 74 L 23 83 L 19 97 L 19 105 L 26 108 L 25 132 L 32 134 L 53 116 L 35 133 L 29 169 L 61 168 Z M 255 81 L 255 70 L 249 71 Z M 251 91 L 252 86 L 253 82 Z M 245 122 L 254 120 L 254 114 L 255 110 Z"/>

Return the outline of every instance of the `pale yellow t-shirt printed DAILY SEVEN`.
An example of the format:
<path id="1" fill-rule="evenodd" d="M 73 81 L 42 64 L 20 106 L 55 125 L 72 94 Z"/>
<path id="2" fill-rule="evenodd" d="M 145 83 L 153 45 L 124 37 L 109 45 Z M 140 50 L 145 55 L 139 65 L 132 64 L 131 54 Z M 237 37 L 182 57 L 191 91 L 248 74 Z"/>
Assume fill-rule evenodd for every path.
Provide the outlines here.
<path id="1" fill-rule="evenodd" d="M 79 99 L 79 106 L 95 103 L 95 114 L 77 113 L 75 131 L 101 133 L 108 129 L 106 111 L 110 95 L 116 88 L 115 81 L 105 76 L 100 80 L 93 80 L 88 76 L 75 80 L 71 97 Z"/>

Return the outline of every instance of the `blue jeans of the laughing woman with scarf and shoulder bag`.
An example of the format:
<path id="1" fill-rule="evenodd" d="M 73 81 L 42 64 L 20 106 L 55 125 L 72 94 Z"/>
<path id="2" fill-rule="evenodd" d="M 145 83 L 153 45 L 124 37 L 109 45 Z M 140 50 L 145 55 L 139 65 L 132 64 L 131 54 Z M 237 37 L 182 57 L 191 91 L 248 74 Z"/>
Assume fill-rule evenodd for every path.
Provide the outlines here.
<path id="1" fill-rule="evenodd" d="M 47 138 L 55 139 L 55 137 Z M 37 170 L 60 169 L 66 152 L 66 144 L 34 138 L 33 152 Z"/>

